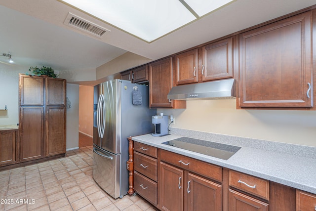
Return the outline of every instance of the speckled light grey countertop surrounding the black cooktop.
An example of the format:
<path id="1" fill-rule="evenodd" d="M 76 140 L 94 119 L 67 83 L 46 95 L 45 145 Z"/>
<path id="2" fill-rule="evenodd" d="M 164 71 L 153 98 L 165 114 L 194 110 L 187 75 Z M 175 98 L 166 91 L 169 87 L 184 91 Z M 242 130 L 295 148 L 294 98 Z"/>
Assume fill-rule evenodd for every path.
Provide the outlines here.
<path id="1" fill-rule="evenodd" d="M 182 136 L 231 144 L 241 149 L 223 160 L 161 144 Z M 184 129 L 173 129 L 170 135 L 161 137 L 134 136 L 132 140 L 316 194 L 316 147 Z"/>

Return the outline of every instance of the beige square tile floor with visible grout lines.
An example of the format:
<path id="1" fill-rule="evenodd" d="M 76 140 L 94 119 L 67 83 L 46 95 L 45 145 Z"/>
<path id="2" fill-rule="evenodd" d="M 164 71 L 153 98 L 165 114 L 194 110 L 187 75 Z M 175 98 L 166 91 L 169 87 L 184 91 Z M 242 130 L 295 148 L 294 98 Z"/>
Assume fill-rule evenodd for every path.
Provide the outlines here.
<path id="1" fill-rule="evenodd" d="M 92 146 L 0 171 L 0 211 L 155 211 L 139 196 L 113 199 L 92 178 Z"/>

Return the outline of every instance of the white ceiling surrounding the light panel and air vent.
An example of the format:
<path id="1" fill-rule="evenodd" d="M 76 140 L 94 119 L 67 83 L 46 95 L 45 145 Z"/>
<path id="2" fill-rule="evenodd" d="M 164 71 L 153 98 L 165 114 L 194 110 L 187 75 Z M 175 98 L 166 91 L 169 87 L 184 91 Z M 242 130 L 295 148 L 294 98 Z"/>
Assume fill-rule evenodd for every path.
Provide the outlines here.
<path id="1" fill-rule="evenodd" d="M 0 54 L 10 52 L 16 65 L 27 67 L 95 71 L 127 51 L 156 60 L 314 4 L 316 0 L 235 0 L 148 43 L 58 0 L 0 0 Z M 111 32 L 97 38 L 66 26 L 69 12 Z M 0 56 L 0 62 L 6 61 Z"/>

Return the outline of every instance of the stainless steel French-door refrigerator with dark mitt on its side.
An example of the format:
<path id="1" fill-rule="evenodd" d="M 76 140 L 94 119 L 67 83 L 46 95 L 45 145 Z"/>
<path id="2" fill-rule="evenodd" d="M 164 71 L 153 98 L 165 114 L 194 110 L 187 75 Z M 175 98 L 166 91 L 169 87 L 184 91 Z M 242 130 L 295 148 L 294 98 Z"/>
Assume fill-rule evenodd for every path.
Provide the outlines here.
<path id="1" fill-rule="evenodd" d="M 93 178 L 115 199 L 128 191 L 127 137 L 153 132 L 153 115 L 148 86 L 124 80 L 94 86 Z"/>

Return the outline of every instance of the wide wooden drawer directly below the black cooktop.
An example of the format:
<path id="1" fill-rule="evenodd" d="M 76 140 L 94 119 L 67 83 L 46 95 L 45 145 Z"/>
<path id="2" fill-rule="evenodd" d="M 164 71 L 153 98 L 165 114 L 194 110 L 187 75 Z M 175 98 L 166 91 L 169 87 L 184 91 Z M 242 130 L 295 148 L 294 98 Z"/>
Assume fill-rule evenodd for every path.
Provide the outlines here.
<path id="1" fill-rule="evenodd" d="M 222 167 L 198 161 L 194 158 L 179 155 L 166 150 L 160 150 L 160 159 L 169 164 L 193 171 L 216 181 L 222 181 Z"/>

